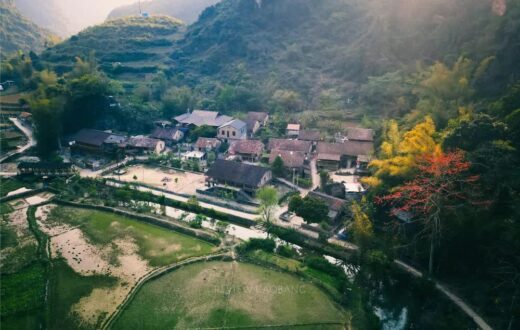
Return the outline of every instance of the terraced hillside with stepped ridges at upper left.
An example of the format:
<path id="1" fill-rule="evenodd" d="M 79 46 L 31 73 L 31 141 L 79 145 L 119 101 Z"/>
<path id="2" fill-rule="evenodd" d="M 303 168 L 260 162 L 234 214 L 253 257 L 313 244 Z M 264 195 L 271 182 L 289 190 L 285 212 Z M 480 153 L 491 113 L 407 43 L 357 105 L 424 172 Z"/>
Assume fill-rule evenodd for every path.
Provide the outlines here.
<path id="1" fill-rule="evenodd" d="M 101 68 L 114 76 L 156 72 L 171 65 L 168 55 L 182 29 L 182 22 L 167 16 L 116 19 L 46 50 L 42 59 L 60 73 L 70 70 L 76 57 L 86 58 L 91 53 Z"/>

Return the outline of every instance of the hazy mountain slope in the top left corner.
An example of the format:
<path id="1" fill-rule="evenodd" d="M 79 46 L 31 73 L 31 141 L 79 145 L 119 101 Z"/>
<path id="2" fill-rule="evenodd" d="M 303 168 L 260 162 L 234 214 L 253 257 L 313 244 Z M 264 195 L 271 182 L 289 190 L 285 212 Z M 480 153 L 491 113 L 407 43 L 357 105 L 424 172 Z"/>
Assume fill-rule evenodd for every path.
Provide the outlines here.
<path id="1" fill-rule="evenodd" d="M 6 56 L 22 50 L 39 52 L 49 44 L 50 32 L 23 17 L 13 1 L 0 1 L 0 53 Z"/>

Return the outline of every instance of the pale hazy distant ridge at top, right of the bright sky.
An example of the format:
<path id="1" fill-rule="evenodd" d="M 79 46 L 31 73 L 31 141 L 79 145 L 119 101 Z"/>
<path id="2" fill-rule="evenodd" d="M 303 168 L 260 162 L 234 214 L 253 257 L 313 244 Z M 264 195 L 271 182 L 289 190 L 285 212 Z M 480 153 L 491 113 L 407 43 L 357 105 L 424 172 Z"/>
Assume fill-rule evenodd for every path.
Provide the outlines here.
<path id="1" fill-rule="evenodd" d="M 197 20 L 200 13 L 220 0 L 152 0 L 121 6 L 110 12 L 108 19 L 139 15 L 139 7 L 143 13 L 150 15 L 167 15 L 178 18 L 188 24 Z"/>

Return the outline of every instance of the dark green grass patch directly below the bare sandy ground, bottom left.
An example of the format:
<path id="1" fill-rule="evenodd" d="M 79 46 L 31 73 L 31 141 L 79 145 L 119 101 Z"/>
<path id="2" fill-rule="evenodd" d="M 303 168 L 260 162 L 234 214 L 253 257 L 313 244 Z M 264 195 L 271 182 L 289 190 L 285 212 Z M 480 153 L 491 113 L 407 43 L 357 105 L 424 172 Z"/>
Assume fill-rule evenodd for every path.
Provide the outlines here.
<path id="1" fill-rule="evenodd" d="M 62 259 L 53 261 L 49 276 L 49 302 L 47 304 L 49 328 L 79 328 L 78 318 L 70 312 L 71 307 L 82 297 L 88 296 L 92 290 L 111 287 L 116 283 L 117 279 L 109 276 L 79 275 Z"/>

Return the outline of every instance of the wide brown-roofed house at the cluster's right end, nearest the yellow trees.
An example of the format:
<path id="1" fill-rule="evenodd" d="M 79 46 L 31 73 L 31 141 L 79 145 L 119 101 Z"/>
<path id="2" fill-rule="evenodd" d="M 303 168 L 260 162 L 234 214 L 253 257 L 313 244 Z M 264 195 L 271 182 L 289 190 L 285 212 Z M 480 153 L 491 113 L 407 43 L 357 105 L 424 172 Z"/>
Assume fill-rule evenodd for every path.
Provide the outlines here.
<path id="1" fill-rule="evenodd" d="M 366 141 L 319 142 L 316 147 L 318 169 L 336 171 L 340 168 L 366 168 L 373 147 L 372 142 Z"/>

